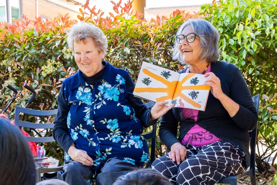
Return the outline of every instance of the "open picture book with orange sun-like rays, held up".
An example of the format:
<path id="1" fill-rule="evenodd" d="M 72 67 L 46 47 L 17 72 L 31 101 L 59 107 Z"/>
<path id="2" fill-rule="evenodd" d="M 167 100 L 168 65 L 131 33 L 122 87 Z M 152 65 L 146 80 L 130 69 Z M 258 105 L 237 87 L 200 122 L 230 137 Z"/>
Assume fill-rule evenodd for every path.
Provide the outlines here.
<path id="1" fill-rule="evenodd" d="M 205 75 L 174 72 L 143 62 L 134 88 L 134 96 L 154 102 L 168 101 L 174 107 L 205 110 L 210 86 Z"/>

